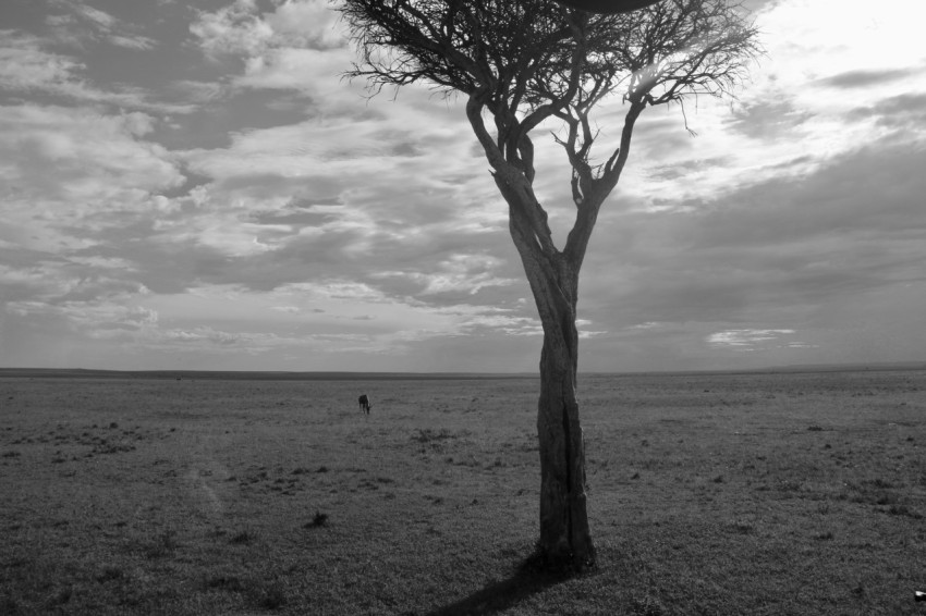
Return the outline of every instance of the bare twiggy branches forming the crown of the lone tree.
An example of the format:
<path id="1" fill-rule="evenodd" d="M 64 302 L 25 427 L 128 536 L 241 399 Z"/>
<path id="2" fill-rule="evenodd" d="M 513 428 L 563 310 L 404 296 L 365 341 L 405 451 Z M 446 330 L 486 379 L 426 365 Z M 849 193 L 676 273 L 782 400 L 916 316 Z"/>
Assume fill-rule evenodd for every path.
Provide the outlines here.
<path id="1" fill-rule="evenodd" d="M 466 115 L 505 197 L 526 199 L 537 246 L 555 254 L 546 212 L 531 189 L 531 133 L 548 120 L 572 167 L 576 222 L 566 252 L 580 263 L 598 208 L 630 156 L 646 107 L 700 95 L 730 96 L 761 53 L 735 0 L 662 0 L 618 15 L 589 15 L 549 0 L 343 0 L 340 11 L 361 57 L 348 73 L 371 95 L 425 83 L 467 95 Z M 629 104 L 620 145 L 595 163 L 596 106 Z M 484 114 L 492 116 L 489 131 Z"/>

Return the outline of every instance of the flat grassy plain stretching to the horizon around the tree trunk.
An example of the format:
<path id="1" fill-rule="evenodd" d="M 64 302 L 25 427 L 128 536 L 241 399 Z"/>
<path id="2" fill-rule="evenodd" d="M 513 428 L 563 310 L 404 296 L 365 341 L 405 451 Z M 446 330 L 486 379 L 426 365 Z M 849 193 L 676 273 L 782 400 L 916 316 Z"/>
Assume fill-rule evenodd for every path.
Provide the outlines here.
<path id="1" fill-rule="evenodd" d="M 0 614 L 926 614 L 926 372 L 581 386 L 556 578 L 534 379 L 2 378 Z"/>

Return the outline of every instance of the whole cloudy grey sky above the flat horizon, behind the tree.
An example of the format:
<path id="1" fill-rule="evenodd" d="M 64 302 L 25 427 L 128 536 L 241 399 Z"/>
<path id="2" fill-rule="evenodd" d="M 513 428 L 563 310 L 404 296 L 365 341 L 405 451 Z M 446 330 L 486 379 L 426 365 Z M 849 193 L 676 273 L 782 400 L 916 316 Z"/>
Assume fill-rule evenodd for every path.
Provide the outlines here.
<path id="1" fill-rule="evenodd" d="M 645 112 L 582 272 L 581 370 L 926 359 L 913 4 L 751 0 L 767 56 L 739 100 L 686 106 L 697 136 Z M 368 99 L 343 30 L 325 0 L 2 0 L 0 367 L 536 370 L 462 104 Z"/>

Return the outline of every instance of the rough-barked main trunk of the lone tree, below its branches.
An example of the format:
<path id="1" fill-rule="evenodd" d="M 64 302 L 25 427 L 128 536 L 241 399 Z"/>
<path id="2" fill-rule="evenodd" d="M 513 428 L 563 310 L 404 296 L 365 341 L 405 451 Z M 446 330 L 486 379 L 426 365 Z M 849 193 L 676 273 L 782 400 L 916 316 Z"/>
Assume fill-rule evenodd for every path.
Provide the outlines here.
<path id="1" fill-rule="evenodd" d="M 547 568 L 595 566 L 585 495 L 585 444 L 575 398 L 578 268 L 550 239 L 546 214 L 529 181 L 502 168 L 496 183 L 509 204 L 509 230 L 544 327 L 537 433 L 540 447 L 540 539 Z"/>

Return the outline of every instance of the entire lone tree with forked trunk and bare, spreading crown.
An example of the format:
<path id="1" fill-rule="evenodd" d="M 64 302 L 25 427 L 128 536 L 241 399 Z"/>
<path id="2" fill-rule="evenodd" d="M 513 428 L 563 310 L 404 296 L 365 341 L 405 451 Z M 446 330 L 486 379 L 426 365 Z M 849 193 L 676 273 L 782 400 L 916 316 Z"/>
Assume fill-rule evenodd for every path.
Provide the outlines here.
<path id="1" fill-rule="evenodd" d="M 594 566 L 575 397 L 578 271 L 639 114 L 730 95 L 760 53 L 757 29 L 729 0 L 663 0 L 612 15 L 551 0 L 342 0 L 339 10 L 361 60 L 350 77 L 373 93 L 424 82 L 466 99 L 544 328 L 537 556 L 548 567 Z M 595 158 L 592 112 L 618 94 L 626 109 L 620 144 Z M 572 168 L 575 222 L 562 249 L 533 189 L 532 132 L 541 124 L 558 128 Z"/>

